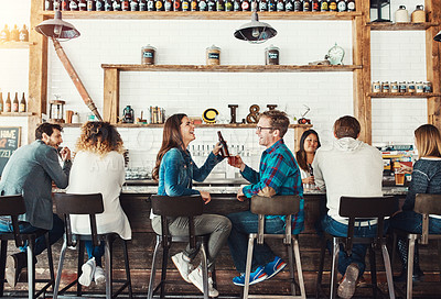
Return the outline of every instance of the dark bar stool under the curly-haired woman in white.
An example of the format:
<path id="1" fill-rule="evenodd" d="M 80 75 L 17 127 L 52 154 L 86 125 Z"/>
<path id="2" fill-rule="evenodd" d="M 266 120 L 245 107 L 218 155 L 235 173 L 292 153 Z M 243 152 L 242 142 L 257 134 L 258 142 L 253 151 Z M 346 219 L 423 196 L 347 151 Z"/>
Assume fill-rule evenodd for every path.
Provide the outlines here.
<path id="1" fill-rule="evenodd" d="M 67 246 L 76 246 L 78 243 L 78 275 L 82 272 L 82 265 L 84 263 L 84 242 L 92 241 L 94 246 L 98 246 L 100 241 L 105 242 L 105 261 L 106 261 L 106 298 L 116 298 L 123 289 L 128 288 L 129 298 L 132 298 L 131 280 L 130 280 L 130 267 L 129 267 L 129 255 L 127 251 L 127 241 L 123 242 L 123 257 L 126 266 L 126 279 L 114 279 L 112 278 L 112 244 L 114 241 L 119 237 L 117 233 L 97 233 L 96 214 L 104 212 L 103 196 L 100 193 L 94 195 L 69 195 L 69 193 L 54 193 L 54 201 L 56 204 L 56 211 L 58 214 L 64 217 L 65 220 L 65 235 L 62 251 L 60 254 L 58 272 L 55 280 L 54 296 L 56 299 L 58 294 L 63 294 L 76 284 L 76 295 L 82 296 L 82 285 L 78 283 L 78 278 L 67 285 L 65 288 L 58 291 L 60 283 L 63 272 L 64 257 L 66 255 Z M 71 229 L 71 214 L 88 214 L 90 221 L 90 234 L 75 234 Z M 112 292 L 114 283 L 122 283 L 122 286 Z"/>

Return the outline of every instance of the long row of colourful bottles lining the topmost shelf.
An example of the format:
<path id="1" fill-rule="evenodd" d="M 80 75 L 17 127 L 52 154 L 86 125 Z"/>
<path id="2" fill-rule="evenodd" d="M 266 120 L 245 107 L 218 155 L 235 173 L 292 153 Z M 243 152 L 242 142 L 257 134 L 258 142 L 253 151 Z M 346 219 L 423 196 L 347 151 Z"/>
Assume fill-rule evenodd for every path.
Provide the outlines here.
<path id="1" fill-rule="evenodd" d="M 252 0 L 45 0 L 62 11 L 250 11 Z M 355 0 L 258 0 L 258 11 L 355 11 Z"/>

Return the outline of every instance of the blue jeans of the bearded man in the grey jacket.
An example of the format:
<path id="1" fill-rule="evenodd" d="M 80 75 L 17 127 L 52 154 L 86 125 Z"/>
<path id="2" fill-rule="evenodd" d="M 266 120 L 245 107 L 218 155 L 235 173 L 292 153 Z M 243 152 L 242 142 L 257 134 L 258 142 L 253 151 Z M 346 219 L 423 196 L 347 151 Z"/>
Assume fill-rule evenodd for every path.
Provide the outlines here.
<path id="1" fill-rule="evenodd" d="M 32 233 L 40 230 L 39 228 L 32 226 L 31 223 L 29 222 L 20 222 L 19 229 L 20 232 L 22 233 Z M 0 219 L 0 234 L 11 233 L 11 232 L 13 232 L 12 222 L 3 221 Z M 56 241 L 58 241 L 63 236 L 63 234 L 64 234 L 64 222 L 63 220 L 60 219 L 57 214 L 53 214 L 52 230 L 49 231 L 49 241 L 51 245 L 54 244 Z M 46 242 L 44 240 L 44 235 L 42 235 L 35 240 L 35 248 L 34 248 L 35 256 L 41 254 L 45 248 L 46 248 Z M 20 251 L 26 252 L 26 246 L 20 247 Z"/>

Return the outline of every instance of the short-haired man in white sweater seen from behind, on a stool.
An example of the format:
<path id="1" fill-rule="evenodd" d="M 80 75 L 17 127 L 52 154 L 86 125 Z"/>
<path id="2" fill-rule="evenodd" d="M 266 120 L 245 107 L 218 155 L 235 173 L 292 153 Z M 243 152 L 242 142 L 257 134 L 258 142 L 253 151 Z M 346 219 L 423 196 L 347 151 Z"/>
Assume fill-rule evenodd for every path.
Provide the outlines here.
<path id="1" fill-rule="evenodd" d="M 342 117 L 334 123 L 336 140 L 331 146 L 316 151 L 312 168 L 315 185 L 326 190 L 327 214 L 322 228 L 330 234 L 346 236 L 347 219 L 340 217 L 340 198 L 383 196 L 383 158 L 380 152 L 358 141 L 359 122 L 353 117 Z M 354 236 L 375 236 L 376 221 L 356 223 Z M 352 255 L 347 256 L 341 246 L 338 272 L 344 278 L 338 287 L 341 298 L 352 298 L 356 283 L 365 270 L 367 245 L 354 244 Z"/>

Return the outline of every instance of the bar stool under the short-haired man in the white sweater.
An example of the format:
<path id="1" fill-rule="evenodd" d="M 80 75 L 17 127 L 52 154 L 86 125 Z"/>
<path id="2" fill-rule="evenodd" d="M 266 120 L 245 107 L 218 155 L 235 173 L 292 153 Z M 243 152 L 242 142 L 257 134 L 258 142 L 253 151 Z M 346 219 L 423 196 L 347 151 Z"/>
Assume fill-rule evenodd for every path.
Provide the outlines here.
<path id="1" fill-rule="evenodd" d="M 322 290 L 322 276 L 324 266 L 324 255 L 326 250 L 326 241 L 332 240 L 332 269 L 331 269 L 331 291 L 330 298 L 337 298 L 337 266 L 340 244 L 343 244 L 346 254 L 352 254 L 352 246 L 357 244 L 369 244 L 369 264 L 374 298 L 377 297 L 377 270 L 375 250 L 380 248 L 386 268 L 386 278 L 389 290 L 389 297 L 395 299 L 392 272 L 390 266 L 389 253 L 386 247 L 386 237 L 384 236 L 385 218 L 390 217 L 398 210 L 398 199 L 392 196 L 387 197 L 341 197 L 340 198 L 340 215 L 348 218 L 347 236 L 336 236 L 325 233 L 323 239 L 320 267 L 318 273 L 318 283 L 315 298 L 320 298 Z M 377 221 L 377 235 L 375 237 L 354 237 L 354 228 L 356 222 Z M 373 223 L 374 224 L 374 223 Z"/>

